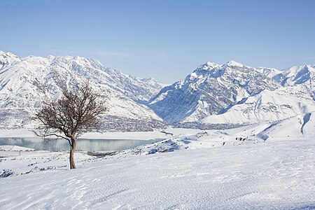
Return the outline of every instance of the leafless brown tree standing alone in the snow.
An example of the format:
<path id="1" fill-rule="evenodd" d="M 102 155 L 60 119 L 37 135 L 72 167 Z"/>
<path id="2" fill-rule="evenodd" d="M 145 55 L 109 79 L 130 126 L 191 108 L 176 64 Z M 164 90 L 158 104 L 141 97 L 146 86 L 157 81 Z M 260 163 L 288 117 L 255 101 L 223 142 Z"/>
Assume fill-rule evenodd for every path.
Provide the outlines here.
<path id="1" fill-rule="evenodd" d="M 35 119 L 41 125 L 34 130 L 38 137 L 59 137 L 70 144 L 70 169 L 75 169 L 73 154 L 76 139 L 87 130 L 98 129 L 101 116 L 107 107 L 99 100 L 100 95 L 92 90 L 89 82 L 74 91 L 63 90 L 57 102 L 44 105 Z"/>

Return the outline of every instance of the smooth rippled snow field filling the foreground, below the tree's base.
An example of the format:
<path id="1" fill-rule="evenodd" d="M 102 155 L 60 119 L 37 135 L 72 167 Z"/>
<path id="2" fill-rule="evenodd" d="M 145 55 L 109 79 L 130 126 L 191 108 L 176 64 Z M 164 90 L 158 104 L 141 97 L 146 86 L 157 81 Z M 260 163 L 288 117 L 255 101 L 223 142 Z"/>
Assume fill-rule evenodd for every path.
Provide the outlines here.
<path id="1" fill-rule="evenodd" d="M 0 179 L 1 209 L 312 209 L 314 140 L 98 159 Z"/>

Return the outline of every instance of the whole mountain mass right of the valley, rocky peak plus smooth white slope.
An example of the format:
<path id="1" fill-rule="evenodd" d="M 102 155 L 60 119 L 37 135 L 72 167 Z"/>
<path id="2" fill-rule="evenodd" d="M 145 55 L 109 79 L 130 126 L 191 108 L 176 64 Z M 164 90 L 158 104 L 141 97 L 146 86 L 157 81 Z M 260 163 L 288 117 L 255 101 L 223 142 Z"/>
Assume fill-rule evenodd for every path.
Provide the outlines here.
<path id="1" fill-rule="evenodd" d="M 207 62 L 185 80 L 163 88 L 148 106 L 183 127 L 276 121 L 314 111 L 314 84 L 311 65 L 280 71 Z"/>

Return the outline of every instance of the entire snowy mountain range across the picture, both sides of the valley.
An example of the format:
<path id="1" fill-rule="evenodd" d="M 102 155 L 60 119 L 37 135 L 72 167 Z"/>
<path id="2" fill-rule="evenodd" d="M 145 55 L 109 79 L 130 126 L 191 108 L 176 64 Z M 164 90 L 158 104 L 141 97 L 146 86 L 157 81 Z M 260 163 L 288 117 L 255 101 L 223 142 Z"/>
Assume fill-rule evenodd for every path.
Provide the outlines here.
<path id="1" fill-rule="evenodd" d="M 90 80 L 109 112 L 103 130 L 148 131 L 179 127 L 236 127 L 315 111 L 315 65 L 278 70 L 230 61 L 207 62 L 172 85 L 137 78 L 95 59 L 20 58 L 0 51 L 0 128 L 34 127 L 43 103 L 62 88 Z"/>

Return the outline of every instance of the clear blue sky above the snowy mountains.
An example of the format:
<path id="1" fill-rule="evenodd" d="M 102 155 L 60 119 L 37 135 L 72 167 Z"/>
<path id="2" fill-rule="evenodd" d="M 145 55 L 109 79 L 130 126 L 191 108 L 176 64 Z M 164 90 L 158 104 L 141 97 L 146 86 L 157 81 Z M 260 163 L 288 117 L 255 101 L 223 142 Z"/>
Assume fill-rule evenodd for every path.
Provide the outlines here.
<path id="1" fill-rule="evenodd" d="M 315 64 L 315 1 L 0 0 L 0 50 L 80 55 L 123 73 L 183 79 L 207 61 Z"/>

